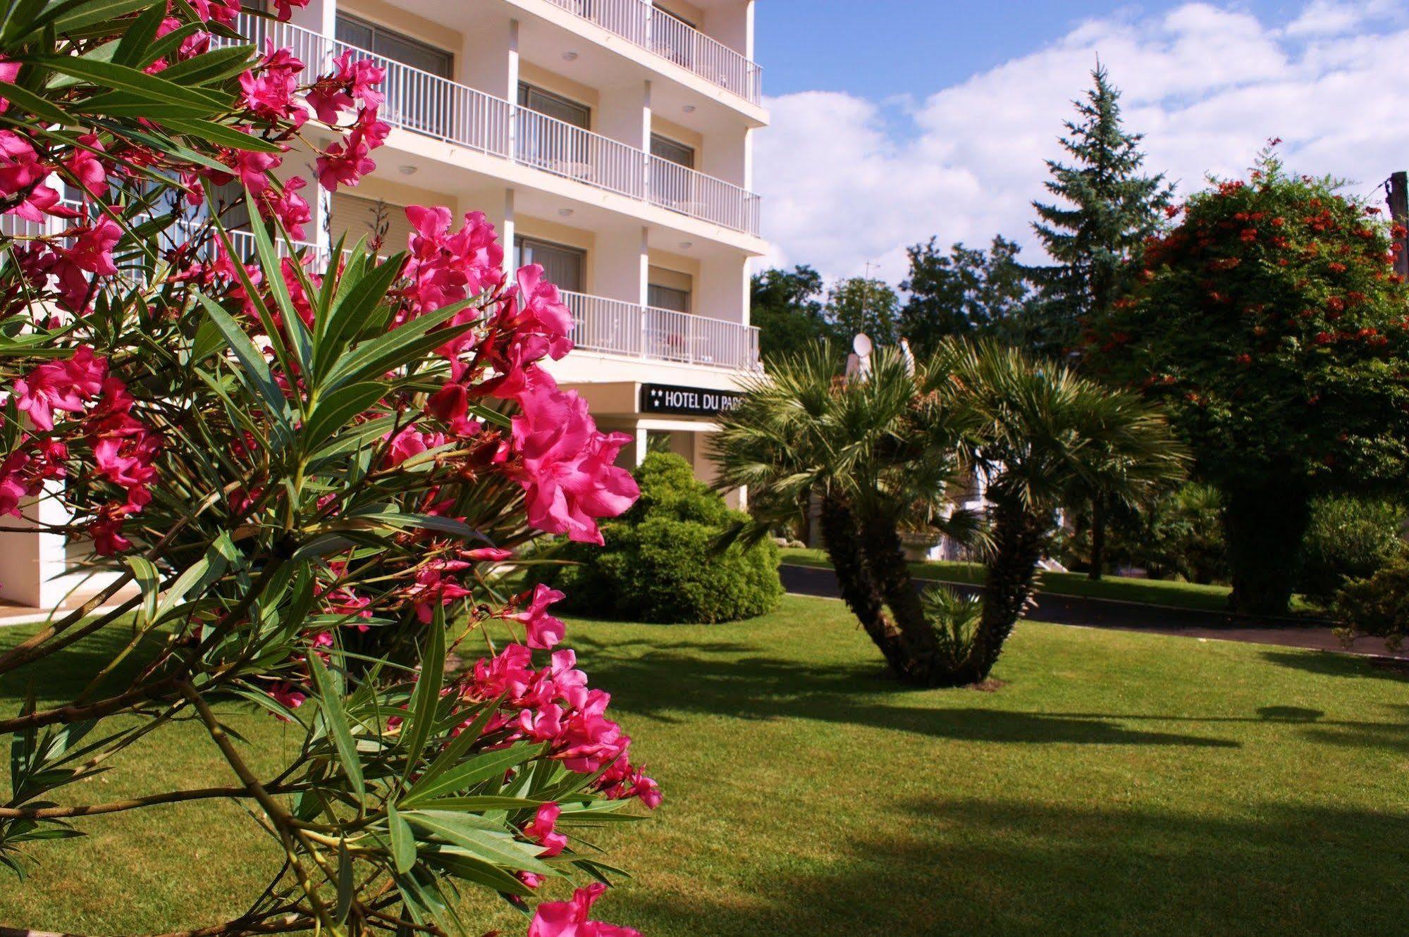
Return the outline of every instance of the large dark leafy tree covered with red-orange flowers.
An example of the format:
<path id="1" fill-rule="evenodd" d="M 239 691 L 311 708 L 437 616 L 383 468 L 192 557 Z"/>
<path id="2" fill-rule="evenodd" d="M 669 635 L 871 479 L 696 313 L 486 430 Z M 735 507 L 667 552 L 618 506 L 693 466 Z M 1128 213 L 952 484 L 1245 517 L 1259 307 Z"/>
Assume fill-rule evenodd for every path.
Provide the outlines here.
<path id="1" fill-rule="evenodd" d="M 1337 187 L 1268 151 L 1250 180 L 1193 196 L 1092 337 L 1106 371 L 1168 403 L 1222 490 L 1241 612 L 1288 609 L 1315 495 L 1409 471 L 1406 289 L 1389 228 Z"/>

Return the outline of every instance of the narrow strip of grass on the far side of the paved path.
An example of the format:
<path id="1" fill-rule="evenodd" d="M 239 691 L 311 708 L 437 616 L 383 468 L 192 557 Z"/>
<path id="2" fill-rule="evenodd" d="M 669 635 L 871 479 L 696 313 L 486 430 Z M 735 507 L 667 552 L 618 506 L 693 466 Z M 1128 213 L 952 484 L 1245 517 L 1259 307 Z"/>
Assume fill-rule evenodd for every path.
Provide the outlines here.
<path id="1" fill-rule="evenodd" d="M 831 566 L 827 561 L 827 554 L 821 550 L 788 548 L 782 554 L 783 562 L 795 566 Z M 974 586 L 983 582 L 983 565 L 976 562 L 912 562 L 910 569 L 916 576 L 924 579 Z M 1227 586 L 1205 586 L 1196 582 L 1175 582 L 1172 579 L 1129 579 L 1123 576 L 1106 576 L 1092 581 L 1084 572 L 1044 572 L 1041 573 L 1041 590 L 1054 596 L 1115 599 L 1119 602 L 1162 604 L 1202 612 L 1227 612 L 1229 604 Z M 1293 600 L 1292 609 L 1296 613 L 1320 610 L 1301 596 Z"/>

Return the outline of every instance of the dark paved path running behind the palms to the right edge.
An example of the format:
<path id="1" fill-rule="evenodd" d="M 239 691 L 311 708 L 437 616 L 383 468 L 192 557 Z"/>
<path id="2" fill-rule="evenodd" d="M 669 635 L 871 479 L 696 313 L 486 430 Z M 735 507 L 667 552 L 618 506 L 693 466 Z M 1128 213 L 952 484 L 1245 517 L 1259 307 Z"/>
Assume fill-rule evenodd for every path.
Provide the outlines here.
<path id="1" fill-rule="evenodd" d="M 781 569 L 783 588 L 788 592 L 807 596 L 840 596 L 837 578 L 831 569 L 816 566 L 789 566 Z M 917 579 L 921 586 L 934 581 Z M 976 593 L 979 586 L 948 585 L 960 592 Z M 1253 644 L 1274 644 L 1281 647 L 1308 648 L 1312 651 L 1347 652 L 1341 640 L 1326 624 L 1306 623 L 1298 619 L 1254 619 L 1222 612 L 1198 612 L 1168 606 L 1148 606 L 1113 599 L 1088 599 L 1079 596 L 1054 596 L 1040 593 L 1037 609 L 1029 613 L 1034 621 L 1053 624 L 1082 624 L 1095 628 L 1119 628 L 1122 631 L 1150 631 L 1154 634 L 1179 634 L 1191 638 L 1219 638 L 1223 641 L 1248 641 Z M 1351 654 L 1371 657 L 1396 657 L 1409 659 L 1409 647 L 1391 654 L 1379 638 L 1360 638 L 1348 648 Z"/>

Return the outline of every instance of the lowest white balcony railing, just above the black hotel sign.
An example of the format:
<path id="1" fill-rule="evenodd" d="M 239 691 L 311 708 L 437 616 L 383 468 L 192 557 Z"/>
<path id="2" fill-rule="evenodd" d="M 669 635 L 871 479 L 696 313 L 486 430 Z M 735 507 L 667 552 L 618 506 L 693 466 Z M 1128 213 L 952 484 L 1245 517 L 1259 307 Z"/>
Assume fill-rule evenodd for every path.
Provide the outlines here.
<path id="1" fill-rule="evenodd" d="M 731 371 L 759 366 L 752 325 L 566 290 L 562 302 L 572 310 L 572 341 L 585 351 Z"/>

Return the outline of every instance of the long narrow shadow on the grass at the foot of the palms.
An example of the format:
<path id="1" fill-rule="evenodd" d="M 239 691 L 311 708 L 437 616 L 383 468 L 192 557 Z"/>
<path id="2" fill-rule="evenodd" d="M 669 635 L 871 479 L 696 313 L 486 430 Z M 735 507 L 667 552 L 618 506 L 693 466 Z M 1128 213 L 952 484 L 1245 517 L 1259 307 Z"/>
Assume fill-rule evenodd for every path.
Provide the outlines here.
<path id="1" fill-rule="evenodd" d="M 1189 733 L 1127 728 L 1120 717 L 1099 714 L 1022 713 L 967 706 L 969 690 L 927 697 L 933 706 L 886 702 L 913 693 L 874 665 L 803 665 L 772 657 L 719 658 L 710 645 L 683 650 L 651 647 L 640 657 L 621 657 L 620 644 L 578 635 L 575 647 L 592 661 L 592 678 L 612 688 L 613 707 L 665 723 L 681 713 L 747 720 L 803 719 L 869 726 L 931 738 L 975 743 L 1078 743 L 1099 745 L 1236 747 L 1239 743 Z M 730 654 L 735 651 L 727 651 Z M 882 697 L 882 699 L 878 699 Z M 957 705 L 945 706 L 947 702 Z"/>

